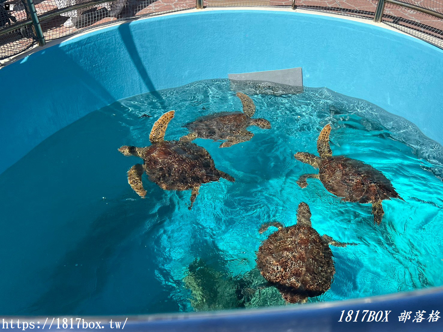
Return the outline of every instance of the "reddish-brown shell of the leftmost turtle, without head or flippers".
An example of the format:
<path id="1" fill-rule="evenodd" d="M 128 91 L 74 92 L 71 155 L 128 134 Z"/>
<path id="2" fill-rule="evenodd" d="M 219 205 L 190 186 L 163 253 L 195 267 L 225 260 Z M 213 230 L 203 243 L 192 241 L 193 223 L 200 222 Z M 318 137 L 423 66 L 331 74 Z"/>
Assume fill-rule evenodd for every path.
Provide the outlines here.
<path id="1" fill-rule="evenodd" d="M 144 150 L 142 158 L 149 180 L 166 190 L 187 190 L 220 179 L 209 152 L 194 143 L 156 143 Z"/>

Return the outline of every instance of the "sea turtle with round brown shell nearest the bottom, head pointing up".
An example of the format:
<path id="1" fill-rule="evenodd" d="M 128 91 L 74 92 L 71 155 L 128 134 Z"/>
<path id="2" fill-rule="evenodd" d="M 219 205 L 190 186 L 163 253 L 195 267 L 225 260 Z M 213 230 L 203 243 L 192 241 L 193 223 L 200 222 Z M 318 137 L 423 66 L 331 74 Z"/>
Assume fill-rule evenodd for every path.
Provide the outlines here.
<path id="1" fill-rule="evenodd" d="M 311 210 L 301 202 L 297 224 L 285 227 L 279 222 L 264 224 L 278 228 L 259 247 L 257 267 L 271 286 L 275 286 L 289 303 L 303 303 L 329 290 L 335 273 L 329 245 L 346 247 L 355 243 L 340 243 L 330 236 L 320 236 L 311 226 Z"/>

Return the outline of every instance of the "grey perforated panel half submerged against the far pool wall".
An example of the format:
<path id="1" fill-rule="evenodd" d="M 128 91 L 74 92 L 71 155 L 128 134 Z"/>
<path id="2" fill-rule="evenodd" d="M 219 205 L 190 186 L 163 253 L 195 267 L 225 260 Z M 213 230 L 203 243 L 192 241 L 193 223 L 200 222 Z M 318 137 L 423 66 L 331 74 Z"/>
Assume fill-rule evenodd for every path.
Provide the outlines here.
<path id="1" fill-rule="evenodd" d="M 273 94 L 303 92 L 302 68 L 228 74 L 231 89 L 246 94 Z"/>

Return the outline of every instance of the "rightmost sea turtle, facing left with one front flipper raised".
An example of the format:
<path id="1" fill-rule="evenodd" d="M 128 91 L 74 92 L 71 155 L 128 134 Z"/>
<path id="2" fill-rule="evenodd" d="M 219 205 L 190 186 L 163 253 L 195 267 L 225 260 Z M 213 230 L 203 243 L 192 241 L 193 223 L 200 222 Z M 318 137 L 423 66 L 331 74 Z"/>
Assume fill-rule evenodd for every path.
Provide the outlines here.
<path id="1" fill-rule="evenodd" d="M 317 140 L 320 157 L 308 152 L 297 152 L 294 155 L 295 159 L 320 169 L 319 174 L 302 175 L 297 181 L 298 185 L 305 188 L 308 178 L 316 178 L 322 181 L 330 193 L 343 197 L 342 201 L 372 203 L 374 223 L 380 225 L 385 214 L 381 201 L 391 197 L 404 201 L 403 198 L 379 170 L 360 160 L 333 156 L 329 146 L 330 131 L 330 124 L 326 124 L 320 132 Z"/>

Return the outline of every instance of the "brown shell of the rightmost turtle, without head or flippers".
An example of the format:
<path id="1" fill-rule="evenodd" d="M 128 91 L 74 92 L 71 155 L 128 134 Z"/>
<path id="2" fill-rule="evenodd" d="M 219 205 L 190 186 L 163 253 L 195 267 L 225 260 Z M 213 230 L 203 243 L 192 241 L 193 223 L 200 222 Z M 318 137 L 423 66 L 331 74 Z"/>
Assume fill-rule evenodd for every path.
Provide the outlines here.
<path id="1" fill-rule="evenodd" d="M 391 181 L 379 170 L 344 156 L 323 158 L 319 171 L 325 188 L 344 201 L 373 203 L 400 198 Z"/>

